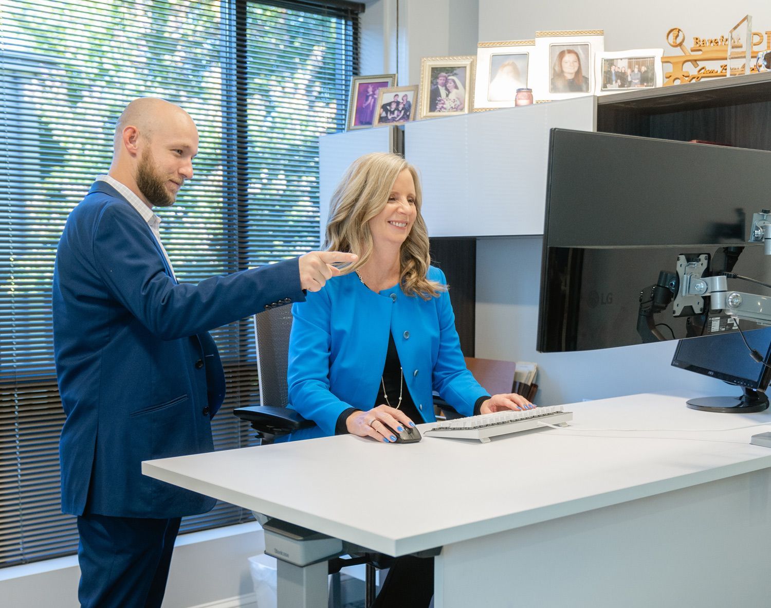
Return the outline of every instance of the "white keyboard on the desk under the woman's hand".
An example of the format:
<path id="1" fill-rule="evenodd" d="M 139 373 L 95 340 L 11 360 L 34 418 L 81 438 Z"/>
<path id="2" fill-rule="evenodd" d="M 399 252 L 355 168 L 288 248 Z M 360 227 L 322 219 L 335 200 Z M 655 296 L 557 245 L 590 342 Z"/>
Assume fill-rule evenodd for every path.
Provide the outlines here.
<path id="1" fill-rule="evenodd" d="M 437 422 L 436 426 L 426 431 L 428 437 L 452 437 L 453 439 L 478 439 L 483 444 L 490 437 L 507 435 L 531 428 L 542 427 L 541 422 L 557 424 L 561 427 L 573 420 L 573 413 L 566 412 L 561 405 L 534 407 L 532 410 L 496 412 L 495 414 L 480 414 L 467 418 L 456 418 L 451 421 Z"/>

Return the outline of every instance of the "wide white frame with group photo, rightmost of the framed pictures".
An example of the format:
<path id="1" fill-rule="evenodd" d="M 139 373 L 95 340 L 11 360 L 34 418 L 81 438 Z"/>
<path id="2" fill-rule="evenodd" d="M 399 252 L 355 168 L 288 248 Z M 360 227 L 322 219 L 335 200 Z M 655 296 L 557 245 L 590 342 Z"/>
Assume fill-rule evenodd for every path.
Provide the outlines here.
<path id="1" fill-rule="evenodd" d="M 664 49 L 631 49 L 594 55 L 594 94 L 655 89 L 662 86 Z M 635 67 L 638 69 L 635 70 Z M 620 73 L 623 69 L 623 73 Z"/>

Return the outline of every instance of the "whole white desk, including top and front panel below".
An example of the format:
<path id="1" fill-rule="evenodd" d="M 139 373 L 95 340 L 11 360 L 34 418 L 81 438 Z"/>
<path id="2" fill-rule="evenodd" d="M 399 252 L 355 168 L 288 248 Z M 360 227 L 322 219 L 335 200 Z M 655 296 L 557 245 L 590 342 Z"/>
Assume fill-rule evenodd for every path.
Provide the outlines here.
<path id="1" fill-rule="evenodd" d="M 771 424 L 656 394 L 566 409 L 572 429 Z M 749 444 L 769 428 L 326 437 L 143 472 L 392 556 L 443 546 L 436 608 L 769 606 L 771 449 Z"/>

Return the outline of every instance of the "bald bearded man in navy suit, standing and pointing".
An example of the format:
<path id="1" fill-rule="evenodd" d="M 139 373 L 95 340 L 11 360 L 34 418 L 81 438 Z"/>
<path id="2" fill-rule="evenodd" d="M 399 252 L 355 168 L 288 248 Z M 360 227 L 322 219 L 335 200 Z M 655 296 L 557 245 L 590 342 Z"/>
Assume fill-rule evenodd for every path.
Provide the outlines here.
<path id="1" fill-rule="evenodd" d="M 177 282 L 153 208 L 174 203 L 197 152 L 187 112 L 134 100 L 118 120 L 108 174 L 96 177 L 59 241 L 52 307 L 66 414 L 62 511 L 78 517 L 82 606 L 160 606 L 180 517 L 214 507 L 140 470 L 143 460 L 213 449 L 210 419 L 225 380 L 208 331 L 304 300 L 304 289 L 339 273 L 332 264 L 355 260 L 311 252 Z"/>

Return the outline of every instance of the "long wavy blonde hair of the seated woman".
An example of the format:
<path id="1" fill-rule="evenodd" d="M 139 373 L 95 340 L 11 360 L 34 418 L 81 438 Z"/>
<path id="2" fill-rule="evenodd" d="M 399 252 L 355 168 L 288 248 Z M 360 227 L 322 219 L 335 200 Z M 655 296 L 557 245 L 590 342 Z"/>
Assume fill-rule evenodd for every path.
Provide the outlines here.
<path id="1" fill-rule="evenodd" d="M 439 296 L 446 286 L 428 279 L 431 257 L 426 222 L 420 214 L 423 205 L 420 180 L 416 168 L 399 154 L 365 154 L 348 167 L 329 204 L 324 248 L 359 256 L 355 264 L 342 270 L 343 274 L 365 265 L 372 257 L 373 248 L 369 220 L 385 208 L 396 177 L 405 169 L 415 182 L 416 215 L 412 229 L 402 243 L 399 282 L 406 295 L 427 300 Z"/>

